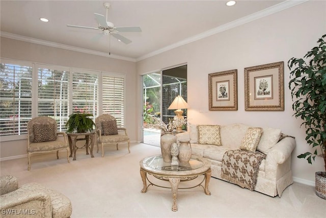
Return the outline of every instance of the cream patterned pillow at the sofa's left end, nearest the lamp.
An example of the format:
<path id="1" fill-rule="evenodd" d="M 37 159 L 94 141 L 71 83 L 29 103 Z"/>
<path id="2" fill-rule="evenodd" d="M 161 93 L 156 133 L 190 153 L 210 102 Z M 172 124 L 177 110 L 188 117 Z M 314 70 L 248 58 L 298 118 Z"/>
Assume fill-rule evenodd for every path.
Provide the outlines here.
<path id="1" fill-rule="evenodd" d="M 220 126 L 197 126 L 199 144 L 215 144 L 221 146 Z"/>

